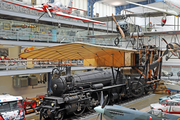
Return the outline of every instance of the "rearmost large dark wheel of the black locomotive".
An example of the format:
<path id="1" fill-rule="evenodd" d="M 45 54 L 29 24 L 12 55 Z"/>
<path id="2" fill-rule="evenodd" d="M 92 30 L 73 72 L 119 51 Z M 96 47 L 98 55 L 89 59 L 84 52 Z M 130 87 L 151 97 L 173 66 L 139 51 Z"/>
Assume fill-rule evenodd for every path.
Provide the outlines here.
<path id="1" fill-rule="evenodd" d="M 131 94 L 134 97 L 139 97 L 144 93 L 144 88 L 141 82 L 133 81 L 131 83 Z"/>

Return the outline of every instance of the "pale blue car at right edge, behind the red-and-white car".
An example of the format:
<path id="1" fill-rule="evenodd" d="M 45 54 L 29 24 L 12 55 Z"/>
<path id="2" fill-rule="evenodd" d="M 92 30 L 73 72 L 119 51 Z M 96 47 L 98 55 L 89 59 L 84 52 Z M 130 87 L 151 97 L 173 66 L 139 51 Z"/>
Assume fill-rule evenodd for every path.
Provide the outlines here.
<path id="1" fill-rule="evenodd" d="M 171 96 L 164 96 L 159 98 L 159 103 L 163 102 L 164 100 L 176 100 L 180 102 L 180 94 L 174 94 Z"/>

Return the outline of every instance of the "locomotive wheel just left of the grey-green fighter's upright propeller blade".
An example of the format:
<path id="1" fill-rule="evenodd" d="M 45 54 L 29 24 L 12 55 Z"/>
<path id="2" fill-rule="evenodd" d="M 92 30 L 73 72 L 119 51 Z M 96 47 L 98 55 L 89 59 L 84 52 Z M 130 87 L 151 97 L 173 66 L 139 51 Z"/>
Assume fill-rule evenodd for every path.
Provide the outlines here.
<path id="1" fill-rule="evenodd" d="M 97 92 L 96 93 L 92 93 L 91 100 L 90 100 L 90 103 L 87 106 L 87 109 L 89 111 L 94 111 L 94 107 L 96 107 L 100 103 L 99 100 L 100 100 L 99 94 Z"/>

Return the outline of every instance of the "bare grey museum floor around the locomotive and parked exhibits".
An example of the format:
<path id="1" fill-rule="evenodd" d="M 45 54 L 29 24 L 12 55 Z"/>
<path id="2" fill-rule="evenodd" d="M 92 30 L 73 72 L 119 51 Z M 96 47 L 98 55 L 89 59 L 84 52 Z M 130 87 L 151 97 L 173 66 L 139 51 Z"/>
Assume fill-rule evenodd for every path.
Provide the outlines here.
<path id="1" fill-rule="evenodd" d="M 128 103 L 123 104 L 123 106 L 128 108 L 136 108 L 141 111 L 149 111 L 150 107 L 149 105 L 152 103 L 157 103 L 159 98 L 162 96 L 167 96 L 168 94 L 151 94 L 150 96 L 143 97 Z M 176 114 L 178 115 L 178 114 Z M 180 115 L 180 114 L 179 114 Z M 86 120 L 96 120 L 97 116 L 94 116 L 92 118 L 86 118 Z M 39 120 L 39 115 L 31 114 L 26 116 L 26 120 Z M 82 119 L 85 120 L 85 119 Z M 105 119 L 103 119 L 105 120 Z"/>

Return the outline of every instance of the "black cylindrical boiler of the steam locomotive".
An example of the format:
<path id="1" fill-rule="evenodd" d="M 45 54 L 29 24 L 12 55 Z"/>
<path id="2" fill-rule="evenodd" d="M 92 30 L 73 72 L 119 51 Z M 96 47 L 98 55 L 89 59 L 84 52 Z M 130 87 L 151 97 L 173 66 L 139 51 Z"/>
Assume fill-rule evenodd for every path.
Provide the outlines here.
<path id="1" fill-rule="evenodd" d="M 111 70 L 95 70 L 72 76 L 61 76 L 53 78 L 51 89 L 54 96 L 62 96 L 76 89 L 100 89 L 113 84 Z"/>

